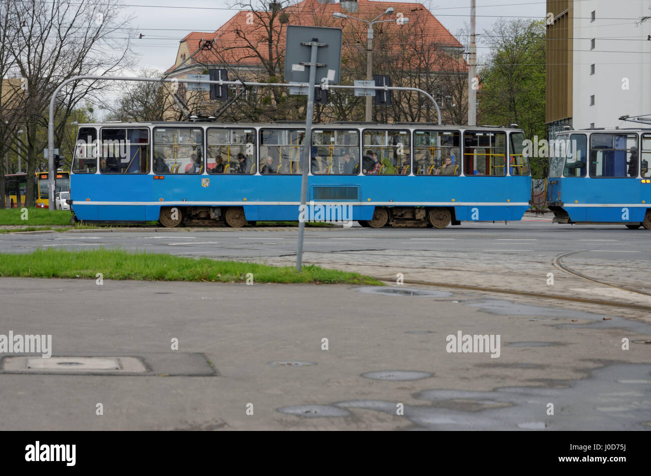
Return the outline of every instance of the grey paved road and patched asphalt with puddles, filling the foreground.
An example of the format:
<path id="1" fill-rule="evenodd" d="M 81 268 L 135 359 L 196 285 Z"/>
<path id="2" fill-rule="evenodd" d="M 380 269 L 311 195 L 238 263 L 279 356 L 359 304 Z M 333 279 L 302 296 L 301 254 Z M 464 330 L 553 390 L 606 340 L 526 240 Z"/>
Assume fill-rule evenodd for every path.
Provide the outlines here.
<path id="1" fill-rule="evenodd" d="M 0 235 L 0 252 L 111 246 L 292 265 L 296 236 L 23 233 Z M 30 375 L 0 354 L 0 430 L 651 429 L 651 317 L 627 307 L 651 306 L 651 231 L 527 217 L 445 230 L 308 228 L 305 243 L 306 263 L 389 285 L 0 278 L 0 334 L 51 334 L 53 356 L 132 356 L 146 368 Z M 407 284 L 395 284 L 397 273 Z M 499 357 L 448 352 L 458 332 L 500 336 Z"/>

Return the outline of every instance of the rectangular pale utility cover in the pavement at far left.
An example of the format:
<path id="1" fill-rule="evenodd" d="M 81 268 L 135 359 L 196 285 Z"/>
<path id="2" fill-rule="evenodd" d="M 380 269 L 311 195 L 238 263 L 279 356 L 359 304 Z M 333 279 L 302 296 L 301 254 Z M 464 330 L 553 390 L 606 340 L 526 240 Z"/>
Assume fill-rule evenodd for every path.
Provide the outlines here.
<path id="1" fill-rule="evenodd" d="M 35 373 L 139 373 L 145 365 L 136 357 L 6 357 L 3 370 Z"/>

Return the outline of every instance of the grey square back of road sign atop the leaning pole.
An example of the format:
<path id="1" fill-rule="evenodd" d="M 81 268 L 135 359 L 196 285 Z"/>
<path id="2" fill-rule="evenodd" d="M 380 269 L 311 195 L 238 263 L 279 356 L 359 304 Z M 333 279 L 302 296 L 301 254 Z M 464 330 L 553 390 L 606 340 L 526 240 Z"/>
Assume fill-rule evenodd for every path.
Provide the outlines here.
<path id="1" fill-rule="evenodd" d="M 311 42 L 317 38 L 319 43 L 327 46 L 318 47 L 316 62 L 326 66 L 316 68 L 316 84 L 320 84 L 323 78 L 331 85 L 339 84 L 339 70 L 341 69 L 341 29 L 328 27 L 299 27 L 289 25 L 287 27 L 285 43 L 285 81 L 296 81 L 308 83 L 310 80 L 309 66 L 301 63 L 309 63 L 312 47 L 301 45 L 302 42 Z"/>

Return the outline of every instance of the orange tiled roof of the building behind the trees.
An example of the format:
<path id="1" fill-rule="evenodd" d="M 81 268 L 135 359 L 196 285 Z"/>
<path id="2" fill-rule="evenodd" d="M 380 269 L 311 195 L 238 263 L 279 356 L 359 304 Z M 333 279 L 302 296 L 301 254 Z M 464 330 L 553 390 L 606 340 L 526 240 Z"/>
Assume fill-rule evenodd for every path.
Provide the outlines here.
<path id="1" fill-rule="evenodd" d="M 395 14 L 391 18 L 396 18 L 398 13 L 409 18 L 406 25 L 397 25 L 393 23 L 380 23 L 374 26 L 374 42 L 380 42 L 383 34 L 391 33 L 396 36 L 396 41 L 388 40 L 390 50 L 400 51 L 404 45 L 400 44 L 400 38 L 407 35 L 415 34 L 422 36 L 425 42 L 436 43 L 437 46 L 462 48 L 462 44 L 436 19 L 432 13 L 427 10 L 421 3 L 396 3 L 391 1 L 370 1 L 358 0 L 358 10 L 352 14 L 358 18 L 372 20 L 381 12 L 389 7 L 395 9 Z M 366 30 L 364 23 L 357 20 L 337 20 L 333 18 L 334 12 L 347 14 L 339 3 L 318 3 L 317 0 L 303 0 L 295 5 L 284 8 L 284 12 L 289 15 L 288 25 L 318 25 L 341 27 L 344 30 L 344 39 L 342 44 L 343 56 L 346 50 L 350 51 L 355 45 L 365 49 Z M 264 14 L 264 12 L 262 12 Z M 387 20 L 389 17 L 387 16 Z M 253 22 L 251 21 L 253 20 Z M 248 46 L 255 46 L 258 53 L 264 60 L 269 57 L 268 42 L 266 41 L 266 30 L 262 27 L 260 21 L 252 16 L 251 12 L 242 10 L 237 12 L 229 21 L 224 23 L 217 31 L 192 32 L 187 34 L 181 42 L 186 42 L 187 49 L 195 53 L 199 49 L 199 43 L 203 40 L 215 40 L 219 54 L 212 51 L 201 51 L 189 60 L 186 64 L 238 64 L 240 66 L 259 66 L 262 61 L 257 57 Z M 276 18 L 278 20 L 278 18 Z M 249 24 L 253 23 L 253 24 Z M 282 33 L 274 36 L 272 44 L 272 57 L 275 56 L 276 48 L 282 53 L 285 43 L 285 28 L 283 25 Z M 401 30 L 402 29 L 402 30 Z M 404 30 L 404 29 L 409 29 Z M 391 36 L 389 36 L 391 38 Z M 413 38 L 413 37 L 412 37 Z M 409 42 L 407 42 L 409 43 Z M 454 68 L 454 70 L 465 70 L 464 60 L 453 59 L 445 53 L 438 53 L 445 59 L 440 62 L 441 69 L 445 66 Z M 173 72 L 176 64 L 171 66 L 165 73 Z"/>

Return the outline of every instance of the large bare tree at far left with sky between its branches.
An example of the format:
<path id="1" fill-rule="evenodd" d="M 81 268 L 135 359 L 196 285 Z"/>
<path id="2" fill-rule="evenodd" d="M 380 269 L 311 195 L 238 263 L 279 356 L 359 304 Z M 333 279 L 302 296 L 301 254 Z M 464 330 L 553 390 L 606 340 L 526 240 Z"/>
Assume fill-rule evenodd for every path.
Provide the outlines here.
<path id="1" fill-rule="evenodd" d="M 14 0 L 3 2 L 11 21 L 3 23 L 8 38 L 9 75 L 20 78 L 12 98 L 25 124 L 27 174 L 33 176 L 46 142 L 39 131 L 48 126 L 49 100 L 62 82 L 77 75 L 118 75 L 133 64 L 126 26 L 117 0 Z M 124 39 L 126 38 L 126 39 Z M 55 103 L 55 142 L 64 134 L 72 111 L 106 87 L 101 81 L 76 81 L 63 88 Z M 15 127 L 12 129 L 15 136 Z M 12 137 L 13 137 L 12 136 Z M 15 142 L 11 141 L 12 144 Z M 27 180 L 25 204 L 33 204 L 34 183 Z"/>

